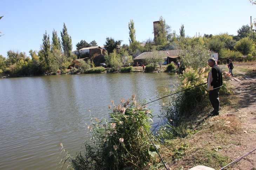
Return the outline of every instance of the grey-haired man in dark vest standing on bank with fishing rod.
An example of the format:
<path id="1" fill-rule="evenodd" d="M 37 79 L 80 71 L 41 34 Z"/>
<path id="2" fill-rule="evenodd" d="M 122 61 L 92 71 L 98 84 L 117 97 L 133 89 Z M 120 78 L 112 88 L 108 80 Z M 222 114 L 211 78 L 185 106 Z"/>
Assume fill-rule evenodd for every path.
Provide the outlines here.
<path id="1" fill-rule="evenodd" d="M 208 65 L 211 70 L 207 78 L 207 90 L 209 90 L 209 100 L 214 109 L 211 111 L 211 116 L 217 116 L 220 108 L 219 90 L 223 86 L 222 73 L 214 58 L 208 60 Z"/>

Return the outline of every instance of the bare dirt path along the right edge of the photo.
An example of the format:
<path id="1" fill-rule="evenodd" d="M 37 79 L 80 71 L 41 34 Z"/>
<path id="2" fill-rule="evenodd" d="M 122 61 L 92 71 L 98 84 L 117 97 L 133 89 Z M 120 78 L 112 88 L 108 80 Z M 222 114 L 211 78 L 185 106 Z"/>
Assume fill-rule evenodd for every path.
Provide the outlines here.
<path id="1" fill-rule="evenodd" d="M 237 140 L 234 141 L 235 144 L 231 144 L 229 149 L 223 150 L 223 154 L 235 161 L 256 148 L 256 77 L 234 77 L 231 78 L 231 85 L 235 95 L 241 99 L 238 102 L 239 109 L 231 109 L 230 112 L 224 114 L 236 117 L 240 126 L 240 133 L 235 136 Z M 244 157 L 230 169 L 255 170 L 256 151 Z"/>

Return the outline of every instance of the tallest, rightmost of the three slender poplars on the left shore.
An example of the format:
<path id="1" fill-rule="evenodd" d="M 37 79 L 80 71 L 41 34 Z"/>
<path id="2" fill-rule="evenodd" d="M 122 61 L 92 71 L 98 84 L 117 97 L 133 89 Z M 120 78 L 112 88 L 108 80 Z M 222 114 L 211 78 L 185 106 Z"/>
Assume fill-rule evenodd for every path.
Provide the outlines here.
<path id="1" fill-rule="evenodd" d="M 67 58 L 70 58 L 72 52 L 72 39 L 71 36 L 68 35 L 68 30 L 65 23 L 63 24 L 63 29 L 62 32 L 60 32 L 60 34 L 63 52 L 67 56 Z"/>

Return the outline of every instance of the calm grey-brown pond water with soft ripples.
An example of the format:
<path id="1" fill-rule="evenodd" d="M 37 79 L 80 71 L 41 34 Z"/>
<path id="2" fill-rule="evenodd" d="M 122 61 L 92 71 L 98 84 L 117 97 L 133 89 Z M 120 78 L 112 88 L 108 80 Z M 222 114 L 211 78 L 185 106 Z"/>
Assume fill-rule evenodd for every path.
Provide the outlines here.
<path id="1" fill-rule="evenodd" d="M 108 118 L 111 100 L 137 94 L 148 102 L 169 95 L 170 73 L 81 74 L 0 80 L 0 169 L 61 169 L 60 143 L 74 154 L 88 139 L 91 117 Z M 169 98 L 150 103 L 153 114 Z M 91 115 L 90 116 L 90 112 Z M 160 118 L 154 118 L 156 126 Z"/>

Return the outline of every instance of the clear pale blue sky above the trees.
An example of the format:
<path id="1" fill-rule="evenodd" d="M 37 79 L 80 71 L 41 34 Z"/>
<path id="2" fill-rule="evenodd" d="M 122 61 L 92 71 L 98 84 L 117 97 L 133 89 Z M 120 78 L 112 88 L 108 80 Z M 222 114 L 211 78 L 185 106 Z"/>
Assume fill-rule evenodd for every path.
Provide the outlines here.
<path id="1" fill-rule="evenodd" d="M 63 23 L 72 38 L 73 51 L 82 39 L 104 45 L 107 37 L 129 44 L 128 23 L 133 19 L 136 40 L 153 39 L 153 22 L 160 16 L 179 34 L 186 36 L 228 33 L 237 35 L 242 25 L 256 18 L 256 5 L 249 0 L 1 0 L 0 54 L 8 50 L 40 50 L 43 34 L 52 38 Z"/>

